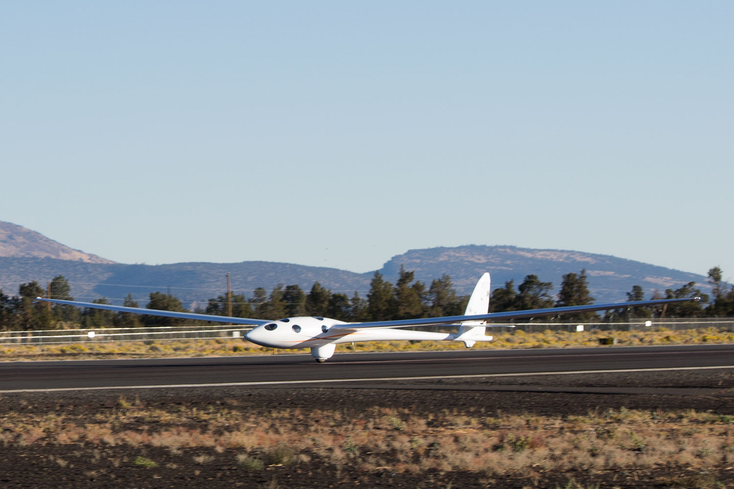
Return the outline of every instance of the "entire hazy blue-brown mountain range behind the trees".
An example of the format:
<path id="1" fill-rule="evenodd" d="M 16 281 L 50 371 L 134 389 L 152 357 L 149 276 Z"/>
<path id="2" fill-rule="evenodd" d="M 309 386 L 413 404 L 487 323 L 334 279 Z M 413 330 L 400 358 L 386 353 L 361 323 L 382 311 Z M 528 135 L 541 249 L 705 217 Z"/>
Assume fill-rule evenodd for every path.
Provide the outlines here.
<path id="1" fill-rule="evenodd" d="M 444 273 L 459 294 L 471 292 L 485 271 L 492 275 L 493 288 L 515 280 L 519 285 L 530 273 L 543 282 L 553 282 L 556 292 L 564 273 L 586 269 L 589 291 L 597 301 L 624 301 L 633 285 L 641 285 L 646 296 L 653 290 L 676 289 L 697 282 L 708 292 L 706 277 L 647 263 L 603 254 L 515 246 L 457 246 L 414 249 L 390 258 L 379 272 L 395 282 L 400 266 L 415 271 L 415 279 L 426 282 Z M 277 284 L 299 284 L 310 290 L 313 282 L 333 292 L 363 297 L 374 272 L 355 273 L 336 268 L 310 267 L 292 263 L 245 261 L 238 263 L 187 262 L 168 265 L 126 265 L 73 250 L 37 232 L 0 221 L 0 289 L 7 295 L 18 293 L 18 285 L 33 280 L 45 287 L 54 276 L 63 275 L 71 294 L 79 301 L 106 297 L 121 303 L 131 294 L 144 306 L 151 292 L 170 292 L 186 306 L 203 306 L 208 298 L 226 291 L 226 273 L 232 289 L 248 297 L 256 287 L 270 291 Z"/>

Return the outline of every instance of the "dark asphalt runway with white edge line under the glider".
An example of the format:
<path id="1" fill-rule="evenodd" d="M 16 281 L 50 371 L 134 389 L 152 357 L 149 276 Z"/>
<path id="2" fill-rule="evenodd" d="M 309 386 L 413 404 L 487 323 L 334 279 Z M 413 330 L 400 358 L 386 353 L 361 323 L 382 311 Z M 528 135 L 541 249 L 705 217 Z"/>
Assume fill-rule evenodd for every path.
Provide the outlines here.
<path id="1" fill-rule="evenodd" d="M 310 355 L 280 354 L 195 359 L 28 361 L 0 363 L 0 392 L 54 389 L 160 388 L 190 386 L 357 389 L 538 389 L 517 382 L 550 372 L 690 369 L 734 365 L 734 345 L 534 350 L 462 350 L 416 353 L 341 353 L 325 364 Z M 530 375 L 528 375 L 530 374 Z M 515 380 L 497 382 L 503 375 Z M 494 378 L 492 383 L 478 380 Z M 462 381 L 472 380 L 467 384 Z M 686 389 L 689 386 L 681 386 Z M 554 389 L 545 386 L 543 389 Z M 599 393 L 635 394 L 635 386 L 562 386 Z M 591 389 L 591 390 L 589 390 Z M 594 390 L 597 389 L 597 390 Z M 606 389 L 606 390 L 605 390 Z M 611 390 L 610 390 L 611 389 Z M 666 386 L 675 389 L 675 386 Z M 650 393 L 649 389 L 647 390 Z M 703 394 L 704 392 L 698 391 Z M 672 393 L 672 391 L 670 391 Z M 683 393 L 683 392 L 681 392 Z"/>

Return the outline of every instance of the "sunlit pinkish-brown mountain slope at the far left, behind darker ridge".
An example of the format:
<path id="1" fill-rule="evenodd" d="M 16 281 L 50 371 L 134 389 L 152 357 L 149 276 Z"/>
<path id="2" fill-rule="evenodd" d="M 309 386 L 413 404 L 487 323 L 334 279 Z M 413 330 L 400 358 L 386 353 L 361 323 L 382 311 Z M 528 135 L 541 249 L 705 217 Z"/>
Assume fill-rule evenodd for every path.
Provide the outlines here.
<path id="1" fill-rule="evenodd" d="M 4 221 L 0 221 L 0 257 L 54 258 L 84 263 L 114 263 L 95 254 L 71 249 L 46 238 L 39 232 Z"/>

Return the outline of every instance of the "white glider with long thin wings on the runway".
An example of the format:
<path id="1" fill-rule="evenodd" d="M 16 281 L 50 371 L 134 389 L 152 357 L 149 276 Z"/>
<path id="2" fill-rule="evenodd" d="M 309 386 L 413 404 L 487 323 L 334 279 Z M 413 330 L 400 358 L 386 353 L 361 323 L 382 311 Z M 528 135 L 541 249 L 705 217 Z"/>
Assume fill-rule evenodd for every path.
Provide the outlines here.
<path id="1" fill-rule="evenodd" d="M 134 314 L 178 317 L 182 319 L 217 321 L 220 323 L 246 324 L 255 326 L 244 335 L 250 342 L 267 348 L 310 348 L 316 361 L 324 362 L 334 354 L 339 343 L 426 340 L 460 341 L 467 348 L 476 342 L 491 341 L 485 334 L 487 320 L 511 320 L 529 317 L 554 316 L 567 312 L 603 311 L 635 306 L 651 306 L 669 302 L 697 300 L 698 298 L 659 299 L 653 301 L 617 302 L 611 304 L 591 304 L 587 306 L 551 307 L 548 309 L 528 309 L 525 311 L 488 312 L 490 307 L 490 274 L 484 273 L 476 283 L 469 298 L 464 315 L 445 317 L 422 317 L 393 321 L 370 321 L 367 323 L 345 323 L 344 321 L 318 316 L 285 317 L 280 320 L 249 319 L 245 317 L 214 316 L 194 312 L 161 311 L 137 307 L 111 306 L 88 302 L 62 301 L 38 297 L 39 301 L 56 304 L 106 309 L 109 311 L 131 312 Z M 434 331 L 413 331 L 410 326 L 458 326 L 457 333 L 438 333 Z"/>

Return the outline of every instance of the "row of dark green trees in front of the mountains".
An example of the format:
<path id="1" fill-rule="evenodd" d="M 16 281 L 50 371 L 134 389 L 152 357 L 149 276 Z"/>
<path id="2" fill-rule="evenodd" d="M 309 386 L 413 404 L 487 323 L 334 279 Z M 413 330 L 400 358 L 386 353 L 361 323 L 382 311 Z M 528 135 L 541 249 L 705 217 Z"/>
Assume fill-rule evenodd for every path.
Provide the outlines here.
<path id="1" fill-rule="evenodd" d="M 563 320 L 579 322 L 620 322 L 632 318 L 645 317 L 733 317 L 734 287 L 727 288 L 722 282 L 722 271 L 718 267 L 708 271 L 709 283 L 712 286 L 711 301 L 709 296 L 695 287 L 695 282 L 688 282 L 664 293 L 655 291 L 650 298 L 694 298 L 702 297 L 702 301 L 682 302 L 667 306 L 622 308 L 607 311 L 603 316 L 597 312 L 583 312 L 564 315 Z M 586 270 L 579 273 L 566 273 L 562 276 L 561 287 L 556 297 L 551 295 L 552 282 L 541 282 L 537 275 L 528 275 L 515 287 L 515 281 L 505 282 L 504 287 L 495 289 L 490 298 L 490 312 L 513 311 L 520 309 L 543 309 L 556 306 L 581 306 L 593 304 L 594 298 L 589 294 Z M 71 287 L 64 276 L 56 276 L 49 284 L 48 295 L 67 301 L 73 301 Z M 0 328 L 4 331 L 30 331 L 52 328 L 135 328 L 140 326 L 181 326 L 199 323 L 174 317 L 136 315 L 128 312 L 113 312 L 101 309 L 80 308 L 65 304 L 51 304 L 36 301 L 36 297 L 45 297 L 37 282 L 21 284 L 18 295 L 8 296 L 0 290 Z M 627 293 L 628 301 L 643 301 L 644 291 L 639 285 L 632 287 Z M 210 298 L 205 307 L 197 307 L 194 312 L 209 315 L 228 316 L 231 304 L 232 316 L 251 317 L 254 319 L 277 319 L 291 316 L 325 316 L 344 321 L 379 321 L 392 319 L 412 319 L 417 317 L 437 317 L 462 315 L 468 295 L 457 295 L 451 277 L 444 274 L 440 279 L 432 280 L 426 287 L 424 282 L 415 280 L 413 271 L 400 268 L 395 284 L 384 279 L 381 273 L 375 272 L 370 282 L 370 290 L 366 297 L 357 292 L 352 296 L 344 293 L 333 293 L 319 282 L 314 282 L 310 290 L 305 292 L 298 285 L 279 284 L 269 293 L 264 287 L 258 287 L 252 296 L 234 293 L 231 298 L 227 293 Z M 107 298 L 94 301 L 96 304 L 110 304 Z M 708 306 L 705 307 L 705 304 Z M 132 295 L 123 301 L 124 306 L 139 307 Z M 147 309 L 188 312 L 181 301 L 170 293 L 153 292 L 149 295 Z M 548 320 L 547 317 L 544 320 Z"/>

